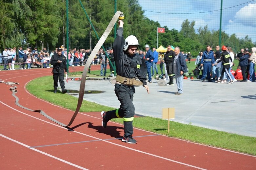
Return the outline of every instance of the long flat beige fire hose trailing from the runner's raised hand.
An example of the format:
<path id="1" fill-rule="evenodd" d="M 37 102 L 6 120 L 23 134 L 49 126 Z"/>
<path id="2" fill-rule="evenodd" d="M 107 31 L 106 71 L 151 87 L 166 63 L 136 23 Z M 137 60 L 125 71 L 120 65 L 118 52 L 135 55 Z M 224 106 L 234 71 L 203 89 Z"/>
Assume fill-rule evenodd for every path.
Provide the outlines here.
<path id="1" fill-rule="evenodd" d="M 40 114 L 42 114 L 43 116 L 47 117 L 48 119 L 50 119 L 51 121 L 63 126 L 63 127 L 69 127 L 73 121 L 75 120 L 75 117 L 77 115 L 77 113 L 79 112 L 81 105 L 83 103 L 83 98 L 84 98 L 84 91 L 85 91 L 85 81 L 86 81 L 86 75 L 87 75 L 87 71 L 88 68 L 90 66 L 90 63 L 92 62 L 94 56 L 96 56 L 97 52 L 100 50 L 100 47 L 103 45 L 103 43 L 106 41 L 109 33 L 111 32 L 112 28 L 114 27 L 116 21 L 118 20 L 120 14 L 122 12 L 117 11 L 115 13 L 115 15 L 113 16 L 112 20 L 110 21 L 110 23 L 108 24 L 108 27 L 106 28 L 105 32 L 103 33 L 103 35 L 101 36 L 100 40 L 98 41 L 98 43 L 96 44 L 96 46 L 94 47 L 94 49 L 92 50 L 90 57 L 88 58 L 84 70 L 83 70 L 83 74 L 82 74 L 82 78 L 81 78 L 81 84 L 80 84 L 80 90 L 79 90 L 79 96 L 78 96 L 78 102 L 77 102 L 77 107 L 76 110 L 71 118 L 71 120 L 69 121 L 68 125 L 65 125 L 55 119 L 53 119 L 52 117 L 50 117 L 49 115 L 47 115 L 43 110 L 31 110 L 29 108 L 26 108 L 22 105 L 19 104 L 19 98 L 15 95 L 15 93 L 17 93 L 16 90 L 16 86 L 12 85 L 12 84 L 18 84 L 18 83 L 12 83 L 12 82 L 1 82 L 1 83 L 6 83 L 10 86 L 13 86 L 10 88 L 10 90 L 12 91 L 12 96 L 15 97 L 15 104 L 18 105 L 19 107 L 26 109 L 26 110 L 30 110 L 30 111 L 35 111 L 35 112 L 39 112 Z"/>

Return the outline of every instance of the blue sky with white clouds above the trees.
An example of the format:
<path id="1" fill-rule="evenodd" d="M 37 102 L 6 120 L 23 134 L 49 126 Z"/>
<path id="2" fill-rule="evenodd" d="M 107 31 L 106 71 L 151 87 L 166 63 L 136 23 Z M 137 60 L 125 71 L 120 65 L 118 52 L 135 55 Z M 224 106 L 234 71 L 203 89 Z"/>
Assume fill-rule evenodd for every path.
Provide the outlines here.
<path id="1" fill-rule="evenodd" d="M 161 26 L 180 31 L 182 22 L 195 21 L 195 30 L 208 25 L 209 30 L 219 30 L 221 0 L 138 0 L 144 15 L 158 21 Z M 248 35 L 256 42 L 256 0 L 223 0 L 222 30 Z"/>

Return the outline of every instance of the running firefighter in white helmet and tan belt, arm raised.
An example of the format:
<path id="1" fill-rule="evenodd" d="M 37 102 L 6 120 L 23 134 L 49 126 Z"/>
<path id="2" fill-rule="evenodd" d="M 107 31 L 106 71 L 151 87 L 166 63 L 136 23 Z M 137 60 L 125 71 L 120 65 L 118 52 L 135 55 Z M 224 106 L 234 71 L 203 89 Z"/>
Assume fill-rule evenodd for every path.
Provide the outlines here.
<path id="1" fill-rule="evenodd" d="M 147 86 L 147 68 L 144 60 L 136 54 L 139 42 L 133 35 L 128 36 L 125 41 L 123 37 L 124 22 L 119 20 L 116 39 L 113 43 L 114 59 L 116 64 L 116 84 L 115 93 L 121 105 L 119 109 L 111 111 L 102 111 L 102 127 L 106 128 L 107 123 L 113 118 L 124 119 L 124 138 L 122 142 L 136 144 L 137 141 L 132 138 L 133 134 L 133 117 L 135 108 L 132 103 L 133 94 L 135 93 L 134 85 L 143 85 L 149 93 Z M 138 77 L 139 80 L 136 80 Z"/>

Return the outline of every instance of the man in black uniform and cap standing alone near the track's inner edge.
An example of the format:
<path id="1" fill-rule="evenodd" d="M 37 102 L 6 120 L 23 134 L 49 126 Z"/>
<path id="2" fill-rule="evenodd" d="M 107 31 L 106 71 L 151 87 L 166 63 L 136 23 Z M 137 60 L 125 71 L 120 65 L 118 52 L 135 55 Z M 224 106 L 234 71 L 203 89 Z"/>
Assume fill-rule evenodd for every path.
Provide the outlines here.
<path id="1" fill-rule="evenodd" d="M 64 70 L 66 71 L 66 74 L 67 74 L 68 69 L 67 69 L 67 60 L 65 56 L 63 56 L 62 54 L 61 48 L 58 48 L 57 53 L 51 57 L 51 65 L 53 65 L 52 73 L 53 73 L 54 93 L 57 93 L 58 79 L 60 82 L 62 93 L 66 93 L 67 90 L 65 89 Z"/>

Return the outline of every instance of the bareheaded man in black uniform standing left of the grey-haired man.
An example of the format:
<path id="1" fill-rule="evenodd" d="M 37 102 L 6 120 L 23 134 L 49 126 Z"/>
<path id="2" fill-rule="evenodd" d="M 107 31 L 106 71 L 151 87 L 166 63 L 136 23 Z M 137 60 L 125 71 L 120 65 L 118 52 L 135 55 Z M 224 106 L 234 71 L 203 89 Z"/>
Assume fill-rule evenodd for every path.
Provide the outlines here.
<path id="1" fill-rule="evenodd" d="M 171 50 L 171 46 L 168 45 L 167 47 L 167 52 L 165 53 L 164 56 L 164 60 L 165 60 L 165 64 L 166 64 L 166 70 L 167 70 L 167 74 L 169 76 L 169 85 L 173 86 L 173 59 L 175 57 L 175 52 L 173 50 Z"/>

